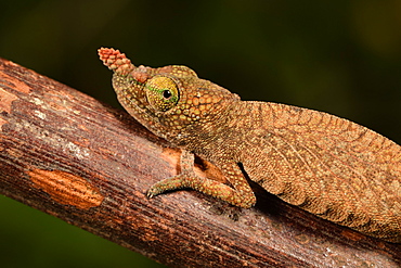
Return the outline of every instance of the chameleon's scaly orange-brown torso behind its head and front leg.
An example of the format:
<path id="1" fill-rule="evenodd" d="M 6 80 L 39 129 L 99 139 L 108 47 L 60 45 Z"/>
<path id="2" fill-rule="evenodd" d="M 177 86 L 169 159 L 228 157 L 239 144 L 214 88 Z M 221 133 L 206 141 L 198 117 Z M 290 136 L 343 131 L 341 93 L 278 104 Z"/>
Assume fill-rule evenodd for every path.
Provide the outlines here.
<path id="1" fill-rule="evenodd" d="M 398 144 L 326 113 L 276 103 L 244 105 L 255 131 L 243 139 L 240 161 L 251 180 L 322 218 L 401 242 Z"/>

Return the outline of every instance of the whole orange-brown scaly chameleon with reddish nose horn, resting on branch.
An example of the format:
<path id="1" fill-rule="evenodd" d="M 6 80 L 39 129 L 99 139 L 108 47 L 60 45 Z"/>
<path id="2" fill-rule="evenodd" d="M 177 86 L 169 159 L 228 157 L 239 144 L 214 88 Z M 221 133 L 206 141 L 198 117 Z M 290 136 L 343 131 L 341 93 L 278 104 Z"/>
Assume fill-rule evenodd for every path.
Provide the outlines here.
<path id="1" fill-rule="evenodd" d="M 401 146 L 324 112 L 242 101 L 182 65 L 134 66 L 119 50 L 98 50 L 120 104 L 140 124 L 181 149 L 181 171 L 147 196 L 193 189 L 250 208 L 249 180 L 318 217 L 401 243 Z M 194 155 L 228 182 L 195 175 Z"/>

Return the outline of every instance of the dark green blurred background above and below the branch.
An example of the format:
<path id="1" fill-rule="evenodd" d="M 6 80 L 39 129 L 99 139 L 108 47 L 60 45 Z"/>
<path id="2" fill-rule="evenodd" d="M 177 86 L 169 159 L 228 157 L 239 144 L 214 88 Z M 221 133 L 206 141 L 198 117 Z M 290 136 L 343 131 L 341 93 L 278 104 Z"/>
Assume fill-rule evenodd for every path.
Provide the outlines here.
<path id="1" fill-rule="evenodd" d="M 400 0 L 2 0 L 0 56 L 118 106 L 96 55 L 114 47 L 401 143 L 400 14 Z M 1 267 L 163 267 L 4 196 L 0 215 Z"/>

